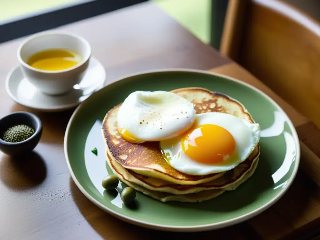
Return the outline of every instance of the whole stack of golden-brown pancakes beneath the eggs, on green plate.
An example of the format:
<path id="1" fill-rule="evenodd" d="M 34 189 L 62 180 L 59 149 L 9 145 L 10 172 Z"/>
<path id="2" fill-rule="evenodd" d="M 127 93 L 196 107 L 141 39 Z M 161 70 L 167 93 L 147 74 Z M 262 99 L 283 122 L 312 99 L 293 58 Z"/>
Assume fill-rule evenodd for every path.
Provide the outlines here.
<path id="1" fill-rule="evenodd" d="M 224 94 L 203 88 L 183 88 L 172 92 L 193 103 L 196 114 L 222 112 L 255 123 L 240 102 Z M 259 144 L 244 162 L 232 170 L 202 176 L 179 172 L 165 160 L 158 142 L 135 144 L 122 138 L 117 128 L 120 106 L 109 110 L 102 123 L 107 162 L 120 181 L 147 196 L 162 202 L 202 202 L 236 189 L 252 176 L 257 167 Z"/>

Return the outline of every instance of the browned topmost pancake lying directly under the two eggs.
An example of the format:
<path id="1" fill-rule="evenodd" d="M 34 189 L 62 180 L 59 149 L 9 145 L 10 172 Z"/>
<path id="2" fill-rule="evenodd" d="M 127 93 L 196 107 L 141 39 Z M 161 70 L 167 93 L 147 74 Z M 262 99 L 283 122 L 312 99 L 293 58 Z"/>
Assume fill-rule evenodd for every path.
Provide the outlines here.
<path id="1" fill-rule="evenodd" d="M 255 123 L 244 106 L 225 94 L 204 88 L 182 88 L 172 92 L 194 104 L 196 114 L 222 112 Z M 102 135 L 110 157 L 124 168 L 144 176 L 162 179 L 180 185 L 197 185 L 221 177 L 225 172 L 204 176 L 189 175 L 172 168 L 164 159 L 158 142 L 130 143 L 124 140 L 118 129 L 116 116 L 121 104 L 106 114 L 102 123 Z"/>

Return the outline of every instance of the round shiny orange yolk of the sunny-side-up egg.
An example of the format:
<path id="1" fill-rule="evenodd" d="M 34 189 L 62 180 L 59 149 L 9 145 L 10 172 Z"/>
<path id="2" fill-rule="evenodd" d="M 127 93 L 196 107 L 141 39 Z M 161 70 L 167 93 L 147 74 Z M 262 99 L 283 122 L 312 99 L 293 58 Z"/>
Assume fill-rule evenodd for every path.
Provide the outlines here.
<path id="1" fill-rule="evenodd" d="M 182 150 L 203 164 L 220 163 L 235 151 L 236 143 L 228 130 L 218 125 L 203 124 L 189 130 L 182 138 Z"/>

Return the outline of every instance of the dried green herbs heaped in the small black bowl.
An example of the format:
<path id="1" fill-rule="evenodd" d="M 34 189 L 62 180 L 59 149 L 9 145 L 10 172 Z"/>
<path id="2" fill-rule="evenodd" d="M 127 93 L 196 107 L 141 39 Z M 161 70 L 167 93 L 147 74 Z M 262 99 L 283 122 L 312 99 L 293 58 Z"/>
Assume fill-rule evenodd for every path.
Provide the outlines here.
<path id="1" fill-rule="evenodd" d="M 6 142 L 21 142 L 31 137 L 34 133 L 35 130 L 32 127 L 19 124 L 8 128 L 4 132 L 2 139 Z"/>

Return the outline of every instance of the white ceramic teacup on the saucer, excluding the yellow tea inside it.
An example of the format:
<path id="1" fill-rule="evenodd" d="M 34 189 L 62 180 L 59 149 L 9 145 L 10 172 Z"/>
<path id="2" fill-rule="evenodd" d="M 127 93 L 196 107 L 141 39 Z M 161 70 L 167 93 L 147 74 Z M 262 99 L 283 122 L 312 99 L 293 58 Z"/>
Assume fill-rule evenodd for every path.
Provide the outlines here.
<path id="1" fill-rule="evenodd" d="M 41 70 L 27 64 L 27 60 L 36 52 L 54 48 L 75 51 L 82 56 L 82 61 L 71 68 L 57 71 Z M 81 81 L 89 65 L 91 47 L 83 37 L 60 31 L 46 31 L 28 37 L 20 44 L 17 56 L 22 74 L 30 83 L 43 93 L 58 95 L 69 92 Z"/>

